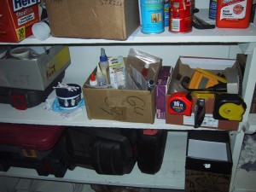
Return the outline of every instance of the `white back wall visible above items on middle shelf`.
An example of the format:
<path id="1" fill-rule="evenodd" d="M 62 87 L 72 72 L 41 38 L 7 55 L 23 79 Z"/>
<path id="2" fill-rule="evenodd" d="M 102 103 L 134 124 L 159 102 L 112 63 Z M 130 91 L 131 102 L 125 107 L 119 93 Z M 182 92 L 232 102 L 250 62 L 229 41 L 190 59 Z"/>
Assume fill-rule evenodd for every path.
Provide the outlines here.
<path id="1" fill-rule="evenodd" d="M 150 37 L 149 37 L 150 38 Z M 68 79 L 79 79 L 83 84 L 99 61 L 101 48 L 106 50 L 108 56 L 127 56 L 131 48 L 141 50 L 150 55 L 163 59 L 163 65 L 175 66 L 179 55 L 204 56 L 216 58 L 236 59 L 236 53 L 241 52 L 237 45 L 102 45 L 102 46 L 69 46 L 72 64 L 67 68 Z M 65 82 L 67 83 L 67 82 Z M 71 82 L 69 82 L 71 83 Z"/>

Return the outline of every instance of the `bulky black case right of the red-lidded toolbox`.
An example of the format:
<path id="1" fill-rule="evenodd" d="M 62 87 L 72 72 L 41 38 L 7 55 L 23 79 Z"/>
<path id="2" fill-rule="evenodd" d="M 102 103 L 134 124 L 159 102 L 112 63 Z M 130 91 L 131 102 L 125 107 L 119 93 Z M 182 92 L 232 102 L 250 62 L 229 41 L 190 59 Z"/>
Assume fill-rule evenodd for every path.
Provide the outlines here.
<path id="1" fill-rule="evenodd" d="M 99 174 L 130 173 L 137 160 L 137 130 L 69 127 L 66 135 L 69 169 L 82 166 Z"/>

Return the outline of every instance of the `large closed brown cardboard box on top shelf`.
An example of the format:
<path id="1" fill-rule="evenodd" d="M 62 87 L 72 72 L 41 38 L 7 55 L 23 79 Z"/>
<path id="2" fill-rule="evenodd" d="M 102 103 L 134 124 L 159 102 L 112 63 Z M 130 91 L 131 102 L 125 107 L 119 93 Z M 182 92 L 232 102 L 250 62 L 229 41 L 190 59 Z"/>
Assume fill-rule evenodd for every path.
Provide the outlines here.
<path id="1" fill-rule="evenodd" d="M 127 39 L 139 26 L 137 1 L 45 0 L 55 37 Z"/>

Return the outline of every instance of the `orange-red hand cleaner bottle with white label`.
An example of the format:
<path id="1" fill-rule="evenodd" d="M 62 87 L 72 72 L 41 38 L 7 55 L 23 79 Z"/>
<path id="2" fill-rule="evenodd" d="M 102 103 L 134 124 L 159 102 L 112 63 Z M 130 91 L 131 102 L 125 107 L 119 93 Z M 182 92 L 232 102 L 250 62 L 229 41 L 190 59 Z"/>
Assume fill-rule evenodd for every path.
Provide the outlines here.
<path id="1" fill-rule="evenodd" d="M 250 23 L 252 3 L 252 0 L 218 0 L 216 26 L 247 28 Z"/>

